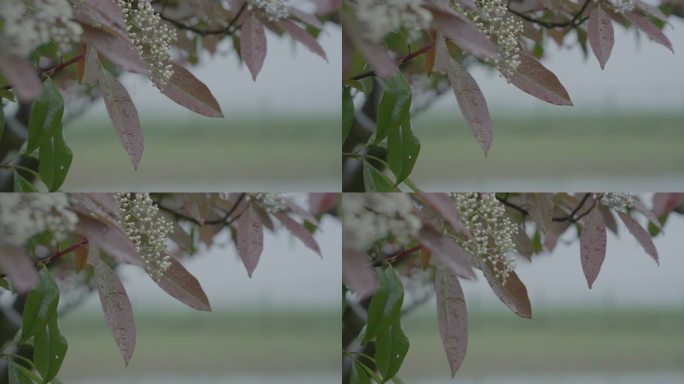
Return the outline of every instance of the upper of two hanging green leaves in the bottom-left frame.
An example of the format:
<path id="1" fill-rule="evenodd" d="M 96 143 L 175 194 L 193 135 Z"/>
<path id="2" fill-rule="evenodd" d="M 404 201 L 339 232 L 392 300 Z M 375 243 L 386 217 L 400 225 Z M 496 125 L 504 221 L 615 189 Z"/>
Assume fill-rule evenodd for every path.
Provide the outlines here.
<path id="1" fill-rule="evenodd" d="M 57 315 L 59 288 L 46 267 L 38 273 L 38 284 L 29 292 L 24 306 L 21 342 L 40 332 Z"/>

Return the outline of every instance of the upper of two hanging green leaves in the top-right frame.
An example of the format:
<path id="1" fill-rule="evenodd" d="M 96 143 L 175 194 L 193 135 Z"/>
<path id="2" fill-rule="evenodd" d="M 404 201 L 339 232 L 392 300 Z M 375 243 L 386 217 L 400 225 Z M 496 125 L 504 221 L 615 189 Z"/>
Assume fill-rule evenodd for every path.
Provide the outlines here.
<path id="1" fill-rule="evenodd" d="M 384 92 L 378 107 L 378 126 L 375 144 L 399 129 L 411 117 L 411 87 L 401 73 L 393 75 L 383 84 Z"/>

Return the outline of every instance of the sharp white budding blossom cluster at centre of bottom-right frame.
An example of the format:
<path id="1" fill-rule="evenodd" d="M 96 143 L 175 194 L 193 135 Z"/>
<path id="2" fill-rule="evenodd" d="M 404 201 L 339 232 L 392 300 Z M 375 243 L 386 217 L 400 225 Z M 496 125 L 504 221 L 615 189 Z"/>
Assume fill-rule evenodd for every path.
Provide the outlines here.
<path id="1" fill-rule="evenodd" d="M 513 236 L 517 227 L 504 217 L 506 208 L 493 193 L 454 193 L 452 198 L 470 238 L 461 246 L 475 265 L 486 265 L 495 277 L 505 282 L 515 269 Z"/>

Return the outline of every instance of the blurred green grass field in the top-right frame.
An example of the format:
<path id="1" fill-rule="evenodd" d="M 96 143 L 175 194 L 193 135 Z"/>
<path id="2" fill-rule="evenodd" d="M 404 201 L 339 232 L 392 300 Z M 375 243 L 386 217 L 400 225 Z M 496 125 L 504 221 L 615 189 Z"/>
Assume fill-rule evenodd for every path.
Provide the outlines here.
<path id="1" fill-rule="evenodd" d="M 486 158 L 456 112 L 426 112 L 414 122 L 422 148 L 412 179 L 424 189 L 648 189 L 644 180 L 684 188 L 682 111 L 503 112 L 492 117 Z"/>

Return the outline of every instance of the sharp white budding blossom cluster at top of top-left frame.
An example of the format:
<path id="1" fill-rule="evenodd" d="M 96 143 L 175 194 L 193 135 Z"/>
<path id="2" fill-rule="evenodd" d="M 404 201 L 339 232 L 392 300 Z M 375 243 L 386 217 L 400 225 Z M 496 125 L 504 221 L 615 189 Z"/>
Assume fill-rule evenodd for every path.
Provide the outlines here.
<path id="1" fill-rule="evenodd" d="M 152 83 L 163 90 L 173 76 L 171 46 L 176 30 L 162 22 L 150 0 L 116 0 L 131 43 L 145 62 Z"/>

